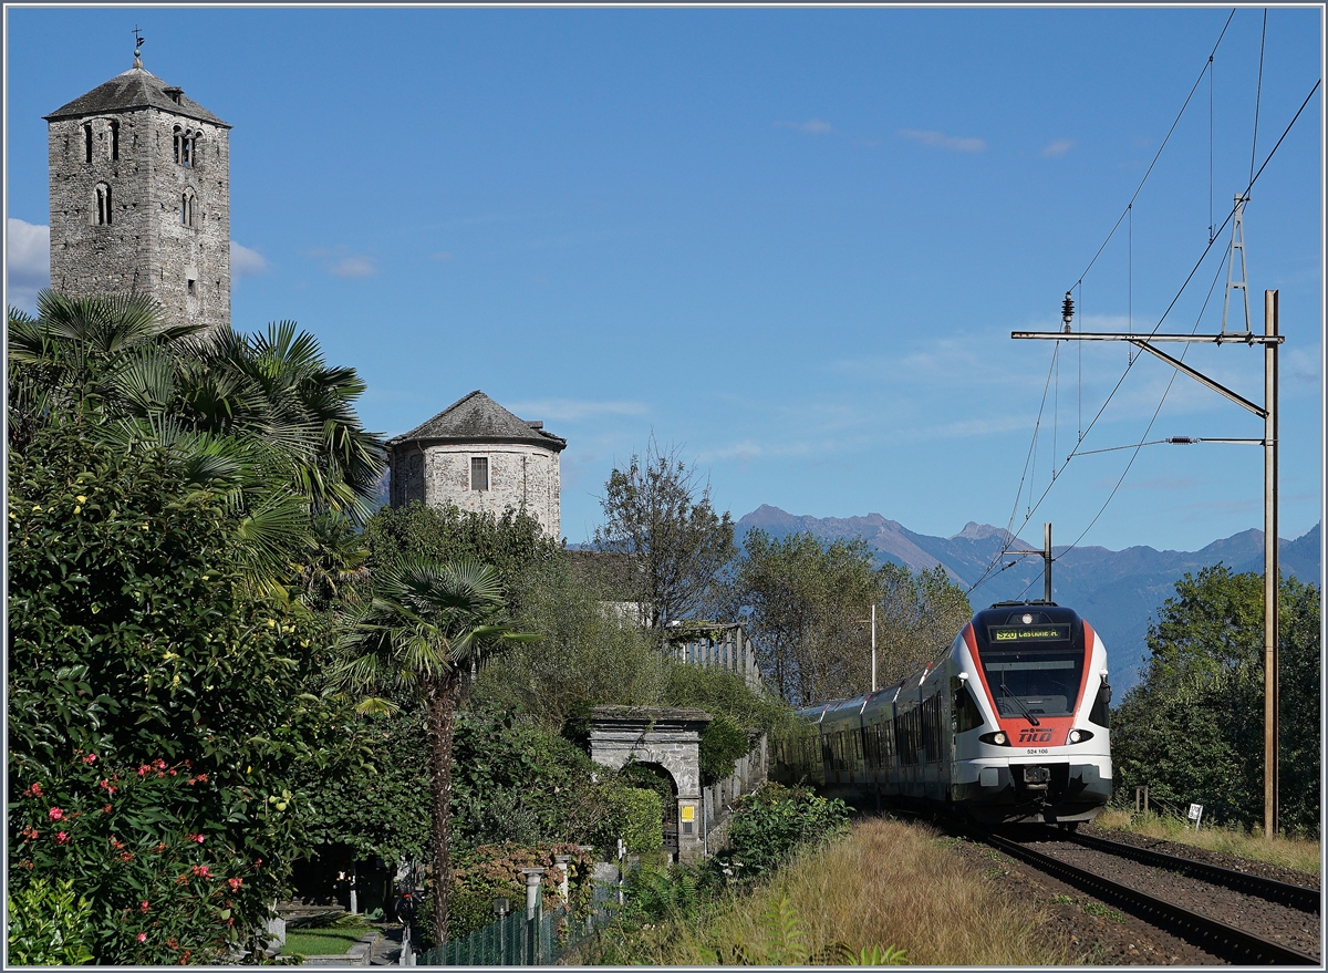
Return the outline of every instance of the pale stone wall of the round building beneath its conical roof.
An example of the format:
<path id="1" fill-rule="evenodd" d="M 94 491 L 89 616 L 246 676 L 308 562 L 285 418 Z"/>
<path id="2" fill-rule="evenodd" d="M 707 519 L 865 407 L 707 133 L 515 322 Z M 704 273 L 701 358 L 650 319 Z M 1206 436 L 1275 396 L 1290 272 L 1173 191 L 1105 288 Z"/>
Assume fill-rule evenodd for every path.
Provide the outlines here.
<path id="1" fill-rule="evenodd" d="M 489 460 L 489 489 L 471 489 L 470 460 Z M 558 453 L 538 445 L 442 444 L 397 449 L 392 456 L 393 506 L 421 500 L 429 506 L 454 504 L 467 512 L 502 514 L 526 508 L 548 537 L 562 537 Z"/>

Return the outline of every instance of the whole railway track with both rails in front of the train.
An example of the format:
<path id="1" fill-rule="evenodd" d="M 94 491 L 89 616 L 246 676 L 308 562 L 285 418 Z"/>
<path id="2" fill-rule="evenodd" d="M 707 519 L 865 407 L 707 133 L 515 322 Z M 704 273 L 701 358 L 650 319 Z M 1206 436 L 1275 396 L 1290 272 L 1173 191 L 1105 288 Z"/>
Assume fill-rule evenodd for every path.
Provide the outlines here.
<path id="1" fill-rule="evenodd" d="M 1239 965 L 1279 965 L 1279 966 L 1320 966 L 1320 957 L 1309 952 L 1303 952 L 1284 941 L 1270 938 L 1262 932 L 1250 928 L 1231 925 L 1203 912 L 1187 909 L 1178 904 L 1183 893 L 1171 892 L 1165 897 L 1135 888 L 1133 884 L 1118 881 L 1114 877 L 1102 875 L 1104 868 L 1089 868 L 1081 864 L 1064 860 L 1064 857 L 1048 853 L 1031 847 L 1031 844 L 1062 844 L 1073 848 L 1086 848 L 1100 855 L 1114 857 L 1127 857 L 1147 868 L 1161 868 L 1187 876 L 1191 880 L 1203 881 L 1206 885 L 1231 889 L 1251 900 L 1264 900 L 1278 903 L 1280 907 L 1296 909 L 1299 912 L 1319 912 L 1319 892 L 1303 889 L 1293 892 L 1297 887 L 1288 883 L 1271 881 L 1259 876 L 1244 875 L 1234 869 L 1218 868 L 1203 863 L 1179 859 L 1161 852 L 1147 852 L 1146 849 L 1122 845 L 1118 841 L 1106 841 L 1086 836 L 1049 836 L 1044 832 L 1033 841 L 1017 841 L 1001 835 L 983 835 L 981 841 L 1003 851 L 1013 859 L 1025 861 L 1035 868 L 1048 872 L 1061 881 L 1073 885 L 1096 899 L 1102 900 L 1122 912 L 1155 925 L 1166 932 L 1178 936 L 1194 945 L 1204 949 L 1215 957 Z M 1139 855 L 1139 852 L 1143 852 Z M 1151 860 L 1145 860 L 1151 859 Z M 1183 880 L 1182 880 L 1183 881 Z M 1139 884 L 1139 883 L 1135 883 Z M 1308 893 L 1308 895 L 1305 895 Z M 1193 893 L 1191 893 L 1193 895 Z M 1309 897 L 1313 901 L 1311 904 Z M 1288 901 L 1291 900 L 1291 901 Z M 1278 908 L 1278 907 L 1271 907 Z M 1243 915 L 1246 911 L 1228 911 L 1228 916 L 1235 912 Z M 1315 928 L 1319 922 L 1315 921 Z M 1286 936 L 1283 936 L 1286 938 Z"/>

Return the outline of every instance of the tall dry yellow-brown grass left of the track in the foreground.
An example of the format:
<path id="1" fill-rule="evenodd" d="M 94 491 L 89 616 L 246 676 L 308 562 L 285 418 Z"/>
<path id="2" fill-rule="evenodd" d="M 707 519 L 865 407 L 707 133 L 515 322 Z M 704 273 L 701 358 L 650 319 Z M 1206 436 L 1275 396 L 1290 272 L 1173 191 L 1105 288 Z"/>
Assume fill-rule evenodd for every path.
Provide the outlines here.
<path id="1" fill-rule="evenodd" d="M 1009 901 L 932 828 L 883 817 L 798 856 L 766 885 L 661 945 L 663 965 L 842 964 L 895 946 L 910 965 L 1062 965 L 1045 915 Z M 790 929 L 790 920 L 794 926 Z M 740 948 L 740 949 L 736 949 Z M 879 961 L 879 960 L 878 960 Z"/>

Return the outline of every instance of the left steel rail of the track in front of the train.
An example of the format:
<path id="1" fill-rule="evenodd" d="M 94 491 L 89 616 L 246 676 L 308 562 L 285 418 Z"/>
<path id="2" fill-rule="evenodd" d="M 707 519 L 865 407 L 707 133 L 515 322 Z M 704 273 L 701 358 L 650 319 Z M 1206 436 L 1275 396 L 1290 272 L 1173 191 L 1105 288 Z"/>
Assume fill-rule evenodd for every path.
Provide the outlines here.
<path id="1" fill-rule="evenodd" d="M 1161 929 L 1185 938 L 1224 960 L 1246 965 L 1321 966 L 1319 957 L 1301 953 L 1280 942 L 1208 919 L 1157 899 L 1138 889 L 1104 879 L 1101 875 L 1033 851 L 1019 841 L 999 835 L 984 835 L 983 841 L 1000 848 L 1007 855 L 1049 872 L 1057 879 L 1080 888 L 1105 903 L 1110 903 Z"/>

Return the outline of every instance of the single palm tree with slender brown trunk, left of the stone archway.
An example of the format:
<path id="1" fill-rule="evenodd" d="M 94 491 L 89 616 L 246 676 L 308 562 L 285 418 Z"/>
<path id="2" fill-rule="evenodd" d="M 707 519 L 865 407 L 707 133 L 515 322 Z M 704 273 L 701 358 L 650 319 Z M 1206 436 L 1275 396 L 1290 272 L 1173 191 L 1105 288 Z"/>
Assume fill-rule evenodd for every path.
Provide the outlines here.
<path id="1" fill-rule="evenodd" d="M 345 653 L 333 666 L 333 686 L 405 689 L 425 710 L 429 736 L 429 796 L 433 816 L 433 920 L 438 942 L 448 940 L 452 888 L 452 735 L 457 702 L 475 669 L 493 653 L 539 635 L 518 634 L 503 618 L 498 570 L 474 561 L 434 564 L 413 558 L 380 569 L 373 597 L 344 615 Z M 390 708 L 369 697 L 361 711 Z"/>

